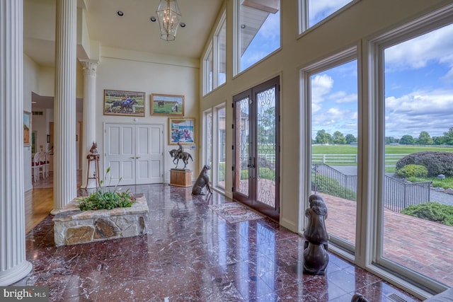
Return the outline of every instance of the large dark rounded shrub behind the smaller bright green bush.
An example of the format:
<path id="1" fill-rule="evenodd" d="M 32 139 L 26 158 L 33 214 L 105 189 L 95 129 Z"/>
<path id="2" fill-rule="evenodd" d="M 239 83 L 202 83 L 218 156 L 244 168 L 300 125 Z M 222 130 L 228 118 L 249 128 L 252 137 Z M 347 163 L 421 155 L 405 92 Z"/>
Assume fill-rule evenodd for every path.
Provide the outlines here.
<path id="1" fill-rule="evenodd" d="M 428 169 L 429 177 L 453 176 L 453 152 L 422 151 L 406 155 L 396 162 L 396 173 L 410 164 L 423 165 Z"/>

